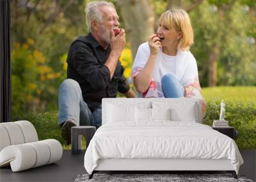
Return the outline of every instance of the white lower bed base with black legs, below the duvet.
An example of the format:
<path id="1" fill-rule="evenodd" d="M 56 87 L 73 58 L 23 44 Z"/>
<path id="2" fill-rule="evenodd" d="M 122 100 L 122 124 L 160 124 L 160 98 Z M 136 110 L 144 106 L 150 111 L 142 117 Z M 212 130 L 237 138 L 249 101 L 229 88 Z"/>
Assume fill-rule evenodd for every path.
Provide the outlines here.
<path id="1" fill-rule="evenodd" d="M 163 171 L 226 171 L 237 179 L 236 171 L 234 171 L 230 160 L 109 158 L 99 160 L 89 179 L 92 179 L 93 174 L 99 171 L 148 171 L 152 173 Z"/>

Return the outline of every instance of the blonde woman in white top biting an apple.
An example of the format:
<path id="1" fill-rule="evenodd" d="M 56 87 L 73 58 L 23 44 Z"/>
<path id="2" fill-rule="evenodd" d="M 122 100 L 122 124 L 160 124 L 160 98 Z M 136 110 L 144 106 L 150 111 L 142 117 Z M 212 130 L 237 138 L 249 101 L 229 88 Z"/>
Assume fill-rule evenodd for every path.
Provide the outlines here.
<path id="1" fill-rule="evenodd" d="M 142 43 L 132 65 L 132 78 L 140 96 L 156 98 L 202 98 L 196 59 L 189 51 L 193 29 L 184 10 L 165 11 L 156 34 Z"/>

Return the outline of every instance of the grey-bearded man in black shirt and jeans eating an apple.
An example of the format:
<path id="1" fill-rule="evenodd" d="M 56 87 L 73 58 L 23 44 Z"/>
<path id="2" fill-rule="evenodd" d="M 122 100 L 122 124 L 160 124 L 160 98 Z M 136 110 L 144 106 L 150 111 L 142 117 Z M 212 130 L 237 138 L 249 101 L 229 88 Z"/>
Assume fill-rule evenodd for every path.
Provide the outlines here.
<path id="1" fill-rule="evenodd" d="M 70 46 L 67 79 L 60 86 L 59 123 L 67 144 L 72 126 L 102 124 L 102 98 L 115 98 L 118 91 L 128 98 L 136 97 L 119 61 L 125 47 L 125 31 L 120 29 L 115 36 L 113 29 L 119 26 L 115 6 L 93 1 L 85 11 L 89 34 Z"/>

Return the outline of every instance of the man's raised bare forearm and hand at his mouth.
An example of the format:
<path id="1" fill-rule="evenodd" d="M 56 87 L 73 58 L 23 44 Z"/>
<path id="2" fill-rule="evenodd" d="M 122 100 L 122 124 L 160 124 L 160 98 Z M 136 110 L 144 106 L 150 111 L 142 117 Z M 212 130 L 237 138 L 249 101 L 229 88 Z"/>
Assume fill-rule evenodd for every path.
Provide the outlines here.
<path id="1" fill-rule="evenodd" d="M 115 36 L 115 32 L 111 31 L 111 41 L 110 41 L 110 47 L 111 52 L 109 54 L 108 60 L 106 61 L 105 65 L 108 67 L 110 72 L 110 79 L 112 79 L 115 70 L 116 65 L 118 63 L 119 57 L 122 54 L 122 51 L 125 47 L 125 31 L 124 29 L 120 29 L 120 33 Z"/>

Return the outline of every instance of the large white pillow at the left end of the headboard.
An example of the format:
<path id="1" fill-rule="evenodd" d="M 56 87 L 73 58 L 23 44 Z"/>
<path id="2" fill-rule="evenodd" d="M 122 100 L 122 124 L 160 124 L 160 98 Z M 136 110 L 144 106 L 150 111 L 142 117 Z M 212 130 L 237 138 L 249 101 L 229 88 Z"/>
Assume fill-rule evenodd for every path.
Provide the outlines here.
<path id="1" fill-rule="evenodd" d="M 135 121 L 135 107 L 108 104 L 107 122 Z"/>

